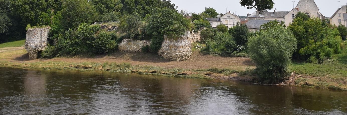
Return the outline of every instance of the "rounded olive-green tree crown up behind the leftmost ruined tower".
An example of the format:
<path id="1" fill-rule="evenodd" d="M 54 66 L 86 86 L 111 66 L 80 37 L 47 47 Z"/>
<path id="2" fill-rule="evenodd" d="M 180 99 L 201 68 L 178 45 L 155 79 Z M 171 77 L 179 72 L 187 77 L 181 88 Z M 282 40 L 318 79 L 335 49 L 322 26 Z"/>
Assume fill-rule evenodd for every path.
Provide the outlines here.
<path id="1" fill-rule="evenodd" d="M 98 13 L 87 0 L 66 0 L 61 14 L 66 29 L 76 28 L 80 23 L 91 24 L 98 20 Z"/>

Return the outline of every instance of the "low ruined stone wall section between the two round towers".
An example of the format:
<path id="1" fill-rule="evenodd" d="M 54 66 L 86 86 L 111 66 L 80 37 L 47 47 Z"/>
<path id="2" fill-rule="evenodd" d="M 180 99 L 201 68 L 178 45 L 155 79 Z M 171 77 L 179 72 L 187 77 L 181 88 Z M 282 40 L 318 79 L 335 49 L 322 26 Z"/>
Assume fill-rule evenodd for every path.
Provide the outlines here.
<path id="1" fill-rule="evenodd" d="M 118 49 L 124 52 L 141 52 L 141 48 L 146 45 L 150 45 L 150 40 L 124 39 L 118 44 Z"/>

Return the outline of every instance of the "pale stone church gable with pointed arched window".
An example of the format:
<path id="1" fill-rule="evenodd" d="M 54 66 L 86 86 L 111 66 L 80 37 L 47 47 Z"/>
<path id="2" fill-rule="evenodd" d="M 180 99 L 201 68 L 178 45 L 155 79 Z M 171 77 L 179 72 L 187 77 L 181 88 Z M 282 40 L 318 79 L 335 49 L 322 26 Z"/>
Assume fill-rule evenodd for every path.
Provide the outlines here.
<path id="1" fill-rule="evenodd" d="M 314 0 L 300 0 L 296 8 L 299 8 L 300 12 L 307 14 L 310 18 L 316 17 L 322 19 L 324 17 L 319 12 L 319 8 Z"/>

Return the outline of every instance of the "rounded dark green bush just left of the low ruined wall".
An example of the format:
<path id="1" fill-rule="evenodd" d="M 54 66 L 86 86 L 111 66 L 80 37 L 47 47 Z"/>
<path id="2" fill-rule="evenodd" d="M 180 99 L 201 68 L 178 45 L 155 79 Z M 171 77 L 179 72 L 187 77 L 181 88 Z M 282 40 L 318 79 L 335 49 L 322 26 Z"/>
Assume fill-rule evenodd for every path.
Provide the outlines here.
<path id="1" fill-rule="evenodd" d="M 93 51 L 95 54 L 104 54 L 116 47 L 116 41 L 112 40 L 111 35 L 105 32 L 101 32 L 93 41 Z"/>

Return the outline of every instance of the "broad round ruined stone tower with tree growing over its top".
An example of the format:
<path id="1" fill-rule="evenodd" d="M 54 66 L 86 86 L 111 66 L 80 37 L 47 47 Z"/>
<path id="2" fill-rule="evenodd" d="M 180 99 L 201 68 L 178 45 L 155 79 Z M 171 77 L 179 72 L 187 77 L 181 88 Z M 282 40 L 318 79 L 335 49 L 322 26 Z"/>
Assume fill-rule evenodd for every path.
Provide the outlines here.
<path id="1" fill-rule="evenodd" d="M 168 38 L 164 36 L 164 42 L 161 45 L 158 54 L 166 60 L 182 61 L 187 60 L 192 55 L 191 33 L 187 31 L 180 38 Z"/>

